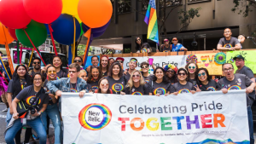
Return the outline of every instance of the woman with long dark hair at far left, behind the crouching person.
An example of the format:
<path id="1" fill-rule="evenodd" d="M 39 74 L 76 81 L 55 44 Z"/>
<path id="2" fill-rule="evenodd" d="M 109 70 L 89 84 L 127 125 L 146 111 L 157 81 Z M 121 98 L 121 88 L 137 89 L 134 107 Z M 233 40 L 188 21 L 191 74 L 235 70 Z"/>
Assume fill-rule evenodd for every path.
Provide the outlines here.
<path id="1" fill-rule="evenodd" d="M 27 86 L 31 85 L 30 76 L 28 75 L 26 66 L 23 64 L 20 64 L 16 66 L 15 72 L 13 73 L 13 79 L 9 81 L 8 90 L 7 90 L 7 100 L 9 103 L 9 110 L 6 115 L 6 123 L 9 124 L 10 119 L 12 118 L 12 115 L 14 113 L 13 107 L 12 107 L 12 101 L 15 99 L 16 95 L 20 93 L 20 91 Z M 15 141 L 16 143 L 20 143 L 20 134 L 21 129 L 17 132 L 15 135 Z M 30 135 L 32 135 L 32 129 L 28 128 L 26 129 L 26 135 L 25 135 L 25 143 L 29 142 Z"/>

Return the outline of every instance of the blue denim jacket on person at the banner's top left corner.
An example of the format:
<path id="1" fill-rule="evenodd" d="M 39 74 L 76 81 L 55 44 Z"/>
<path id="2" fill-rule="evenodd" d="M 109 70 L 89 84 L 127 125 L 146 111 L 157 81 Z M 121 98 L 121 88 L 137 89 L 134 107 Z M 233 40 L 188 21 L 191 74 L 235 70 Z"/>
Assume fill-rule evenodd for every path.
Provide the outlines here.
<path id="1" fill-rule="evenodd" d="M 46 84 L 47 88 L 51 93 L 55 93 L 57 90 L 62 92 L 70 92 L 70 78 L 61 78 L 54 81 L 49 81 Z M 78 78 L 77 91 L 85 90 L 88 93 L 88 85 L 84 79 Z"/>

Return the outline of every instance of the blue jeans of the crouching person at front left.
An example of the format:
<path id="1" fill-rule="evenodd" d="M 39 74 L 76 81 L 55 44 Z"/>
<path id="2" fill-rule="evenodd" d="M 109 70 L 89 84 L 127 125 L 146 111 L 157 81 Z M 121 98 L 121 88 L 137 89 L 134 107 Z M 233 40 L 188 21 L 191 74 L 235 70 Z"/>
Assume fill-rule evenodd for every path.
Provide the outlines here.
<path id="1" fill-rule="evenodd" d="M 26 124 L 36 131 L 39 137 L 40 144 L 45 144 L 47 136 L 41 118 L 38 117 L 32 120 L 26 120 Z M 14 125 L 6 131 L 4 139 L 7 144 L 15 144 L 15 135 L 21 128 L 22 123 L 20 122 L 20 118 L 18 118 L 15 120 Z"/>

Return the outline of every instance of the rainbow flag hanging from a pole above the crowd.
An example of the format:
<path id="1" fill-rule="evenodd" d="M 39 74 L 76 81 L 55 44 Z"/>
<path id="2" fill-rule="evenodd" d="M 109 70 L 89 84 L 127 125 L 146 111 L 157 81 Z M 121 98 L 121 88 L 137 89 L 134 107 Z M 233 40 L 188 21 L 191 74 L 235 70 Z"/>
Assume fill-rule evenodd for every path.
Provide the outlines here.
<path id="1" fill-rule="evenodd" d="M 150 0 L 144 21 L 148 25 L 148 39 L 159 43 L 155 0 Z"/>

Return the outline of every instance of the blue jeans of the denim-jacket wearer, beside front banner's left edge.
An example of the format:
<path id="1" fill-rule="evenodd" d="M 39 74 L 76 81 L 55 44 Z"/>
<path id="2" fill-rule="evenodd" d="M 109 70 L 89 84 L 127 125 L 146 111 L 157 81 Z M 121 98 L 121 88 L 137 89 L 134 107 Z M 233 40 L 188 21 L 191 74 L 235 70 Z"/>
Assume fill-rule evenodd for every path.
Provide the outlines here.
<path id="1" fill-rule="evenodd" d="M 45 130 L 47 130 L 47 115 L 49 116 L 55 127 L 55 144 L 61 144 L 61 117 L 57 104 L 48 105 L 46 110 L 42 113 Z"/>

